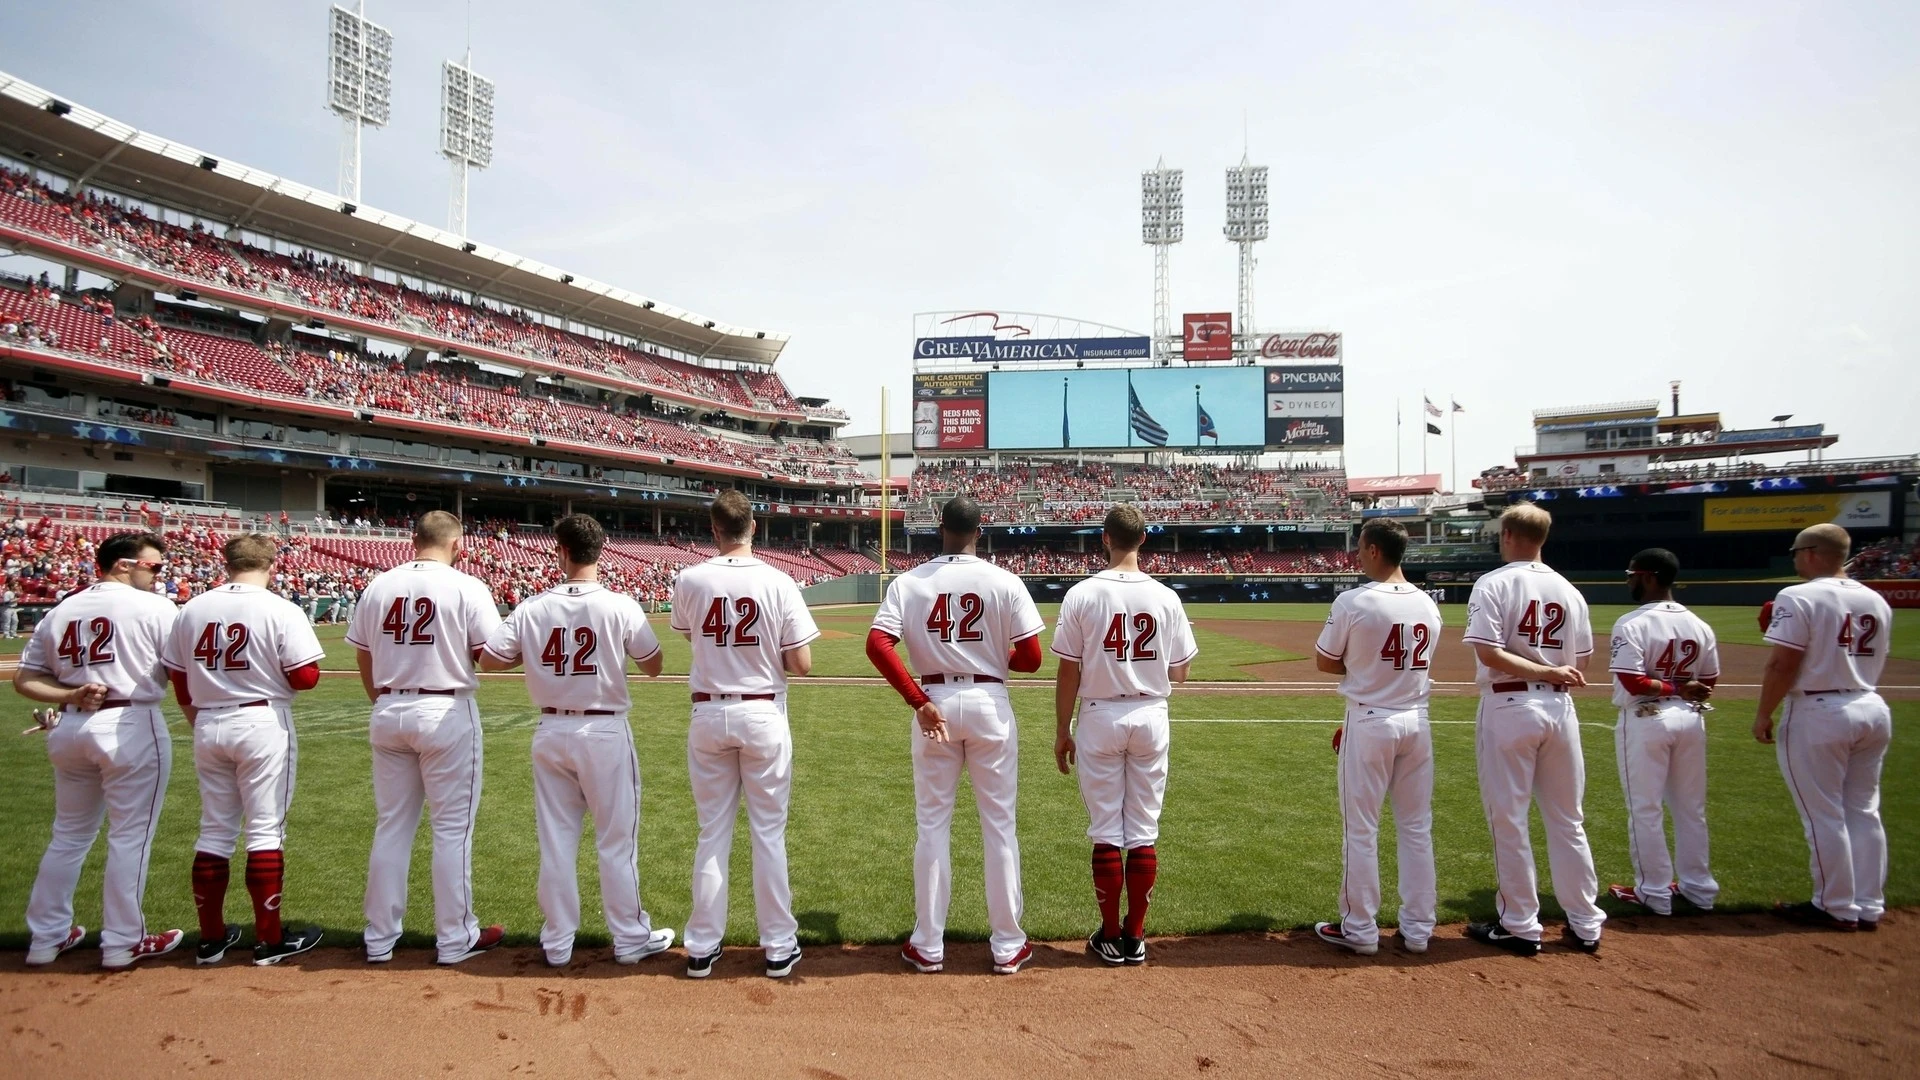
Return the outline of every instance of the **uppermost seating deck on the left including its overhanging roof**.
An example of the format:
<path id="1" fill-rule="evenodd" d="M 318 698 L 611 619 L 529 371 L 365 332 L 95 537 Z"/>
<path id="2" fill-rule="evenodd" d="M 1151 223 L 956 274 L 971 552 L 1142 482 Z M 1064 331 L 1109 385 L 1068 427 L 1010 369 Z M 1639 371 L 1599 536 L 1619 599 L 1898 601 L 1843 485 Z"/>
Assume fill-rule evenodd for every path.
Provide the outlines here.
<path id="1" fill-rule="evenodd" d="M 726 327 L 344 204 L 140 133 L 4 73 L 0 127 L 8 131 L 6 154 L 79 192 L 15 177 L 0 198 L 0 238 L 23 252 L 263 317 L 323 321 L 737 417 L 845 423 L 845 413 L 795 398 L 770 371 L 783 334 Z M 125 198 L 109 202 L 96 190 Z"/>

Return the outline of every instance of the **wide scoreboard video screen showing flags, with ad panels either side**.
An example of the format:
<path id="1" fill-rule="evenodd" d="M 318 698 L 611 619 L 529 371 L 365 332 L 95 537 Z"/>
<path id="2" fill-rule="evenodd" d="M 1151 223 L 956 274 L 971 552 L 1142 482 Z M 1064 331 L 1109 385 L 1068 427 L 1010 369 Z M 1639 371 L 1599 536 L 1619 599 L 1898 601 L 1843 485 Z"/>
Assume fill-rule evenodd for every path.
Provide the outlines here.
<path id="1" fill-rule="evenodd" d="M 1344 371 L 1100 367 L 914 375 L 914 450 L 1329 450 Z"/>

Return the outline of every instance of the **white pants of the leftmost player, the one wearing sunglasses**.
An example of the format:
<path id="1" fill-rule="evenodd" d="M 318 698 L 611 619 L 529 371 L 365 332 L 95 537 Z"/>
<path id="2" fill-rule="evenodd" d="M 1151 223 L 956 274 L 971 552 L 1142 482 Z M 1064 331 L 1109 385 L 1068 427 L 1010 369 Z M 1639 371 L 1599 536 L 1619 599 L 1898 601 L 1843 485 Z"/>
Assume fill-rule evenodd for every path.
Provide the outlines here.
<path id="1" fill-rule="evenodd" d="M 40 872 L 27 899 L 33 947 L 67 940 L 73 926 L 73 890 L 81 867 L 108 821 L 108 865 L 102 882 L 100 951 L 127 953 L 146 936 L 140 903 L 154 853 L 159 807 L 173 773 L 167 721 L 154 705 L 127 705 L 77 713 L 67 709 L 46 734 L 54 765 L 54 840 L 40 857 Z"/>

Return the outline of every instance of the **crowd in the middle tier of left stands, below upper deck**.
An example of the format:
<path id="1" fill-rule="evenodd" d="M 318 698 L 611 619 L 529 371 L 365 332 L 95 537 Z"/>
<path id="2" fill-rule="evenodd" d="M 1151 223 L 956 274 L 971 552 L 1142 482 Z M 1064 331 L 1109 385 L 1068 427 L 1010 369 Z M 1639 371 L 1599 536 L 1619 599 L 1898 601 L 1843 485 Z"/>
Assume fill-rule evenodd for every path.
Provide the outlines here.
<path id="1" fill-rule="evenodd" d="M 58 332 L 50 325 L 54 321 L 65 323 L 67 332 Z M 470 363 L 436 361 L 422 371 L 405 371 L 397 363 L 367 359 L 344 346 L 324 354 L 278 342 L 257 346 L 244 338 L 163 327 L 146 315 L 115 325 L 111 302 L 92 294 L 67 302 L 60 292 L 38 284 L 25 294 L 0 286 L 0 340 L 6 338 L 106 356 L 173 377 L 380 409 L 463 429 L 538 434 L 799 480 L 851 484 L 862 479 L 858 461 L 839 442 L 797 436 L 758 442 L 724 438 L 684 419 L 568 400 L 566 390 L 547 384 L 540 384 L 540 396 L 528 396 L 520 392 L 518 379 L 492 375 Z"/>

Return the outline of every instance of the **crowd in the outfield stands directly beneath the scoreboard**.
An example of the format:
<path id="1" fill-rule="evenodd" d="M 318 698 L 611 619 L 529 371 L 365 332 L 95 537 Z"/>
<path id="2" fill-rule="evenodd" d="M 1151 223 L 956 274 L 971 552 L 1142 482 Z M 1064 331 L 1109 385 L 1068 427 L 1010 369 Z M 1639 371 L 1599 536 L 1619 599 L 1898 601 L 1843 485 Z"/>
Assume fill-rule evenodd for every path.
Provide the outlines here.
<path id="1" fill-rule="evenodd" d="M 1152 523 L 1350 517 L 1346 473 L 1338 469 L 943 457 L 916 465 L 908 521 L 933 521 L 935 503 L 956 494 L 981 503 L 989 525 L 1096 523 L 1116 498 L 1131 498 Z"/>

